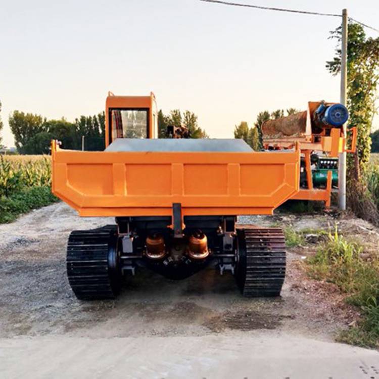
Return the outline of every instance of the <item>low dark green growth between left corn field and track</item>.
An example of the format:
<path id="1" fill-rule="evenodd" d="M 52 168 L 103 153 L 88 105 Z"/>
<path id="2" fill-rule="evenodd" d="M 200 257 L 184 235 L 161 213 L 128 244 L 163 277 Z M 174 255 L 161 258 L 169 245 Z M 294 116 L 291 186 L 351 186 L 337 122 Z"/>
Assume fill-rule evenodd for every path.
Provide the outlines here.
<path id="1" fill-rule="evenodd" d="M 23 188 L 9 197 L 0 197 L 0 223 L 14 221 L 20 214 L 59 201 L 51 193 L 50 186 Z"/>

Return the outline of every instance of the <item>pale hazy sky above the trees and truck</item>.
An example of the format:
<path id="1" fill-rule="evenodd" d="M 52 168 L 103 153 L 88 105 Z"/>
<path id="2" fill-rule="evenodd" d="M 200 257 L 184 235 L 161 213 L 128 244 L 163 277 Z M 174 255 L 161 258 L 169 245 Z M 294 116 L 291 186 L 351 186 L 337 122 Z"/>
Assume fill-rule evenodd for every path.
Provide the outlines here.
<path id="1" fill-rule="evenodd" d="M 379 29 L 377 0 L 235 2 L 326 13 L 347 8 Z M 338 102 L 340 78 L 325 61 L 336 46 L 329 31 L 340 22 L 199 0 L 0 0 L 3 143 L 14 145 L 14 110 L 73 121 L 103 111 L 108 91 L 153 91 L 158 108 L 195 112 L 215 138 L 233 137 L 234 125 L 253 125 L 263 110 Z"/>

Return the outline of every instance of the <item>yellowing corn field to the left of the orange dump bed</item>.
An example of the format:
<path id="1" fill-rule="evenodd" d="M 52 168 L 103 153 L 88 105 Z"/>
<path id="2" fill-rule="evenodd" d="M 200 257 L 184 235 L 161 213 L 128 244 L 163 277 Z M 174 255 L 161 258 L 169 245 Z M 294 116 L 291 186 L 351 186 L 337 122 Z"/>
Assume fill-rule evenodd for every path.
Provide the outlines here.
<path id="1" fill-rule="evenodd" d="M 50 184 L 49 156 L 0 156 L 0 197 L 9 197 L 24 188 Z"/>

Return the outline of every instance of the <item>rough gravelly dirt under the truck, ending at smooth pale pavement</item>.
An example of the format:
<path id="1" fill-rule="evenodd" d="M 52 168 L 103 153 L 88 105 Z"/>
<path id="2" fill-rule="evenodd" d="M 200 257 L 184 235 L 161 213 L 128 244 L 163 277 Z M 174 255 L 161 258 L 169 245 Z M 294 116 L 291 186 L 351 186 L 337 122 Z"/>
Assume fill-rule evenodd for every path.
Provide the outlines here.
<path id="1" fill-rule="evenodd" d="M 315 224 L 313 216 L 301 220 Z M 288 222 L 242 219 L 261 225 L 273 221 Z M 288 252 L 278 299 L 243 298 L 230 272 L 221 276 L 210 267 L 180 281 L 138 269 L 136 276 L 125 278 L 116 300 L 79 301 L 66 277 L 68 235 L 110 223 L 112 218 L 80 218 L 57 203 L 0 225 L 0 337 L 238 336 L 266 330 L 333 341 L 336 331 L 357 317 L 333 285 L 304 275 L 300 262 L 306 252 L 301 249 Z M 325 217 L 318 221 L 319 226 L 326 223 Z"/>

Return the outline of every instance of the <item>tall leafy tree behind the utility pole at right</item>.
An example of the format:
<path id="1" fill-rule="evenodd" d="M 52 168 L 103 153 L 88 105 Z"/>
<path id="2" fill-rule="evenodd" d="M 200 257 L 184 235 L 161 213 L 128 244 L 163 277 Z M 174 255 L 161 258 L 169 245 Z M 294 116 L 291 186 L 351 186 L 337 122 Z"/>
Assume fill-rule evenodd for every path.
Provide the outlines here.
<path id="1" fill-rule="evenodd" d="M 341 45 L 342 27 L 330 32 L 330 38 L 337 39 Z M 357 156 L 359 166 L 355 167 L 354 157 L 348 156 L 350 170 L 354 176 L 365 171 L 370 158 L 370 131 L 372 117 L 375 113 L 375 96 L 379 80 L 379 37 L 367 38 L 363 26 L 354 22 L 348 27 L 348 90 L 347 105 L 349 124 L 358 127 Z M 326 62 L 327 70 L 337 75 L 341 72 L 341 49 L 337 47 L 332 61 Z M 358 170 L 358 172 L 356 172 Z"/>

